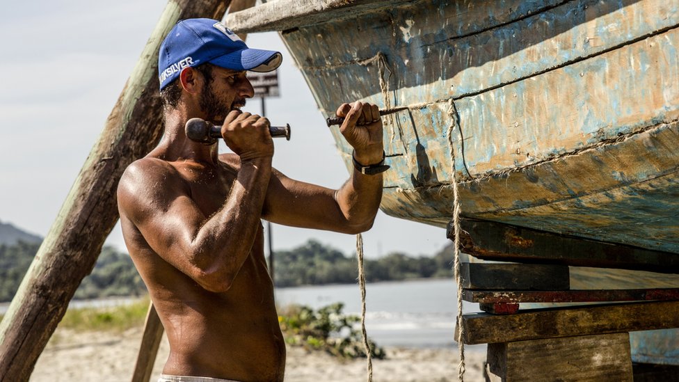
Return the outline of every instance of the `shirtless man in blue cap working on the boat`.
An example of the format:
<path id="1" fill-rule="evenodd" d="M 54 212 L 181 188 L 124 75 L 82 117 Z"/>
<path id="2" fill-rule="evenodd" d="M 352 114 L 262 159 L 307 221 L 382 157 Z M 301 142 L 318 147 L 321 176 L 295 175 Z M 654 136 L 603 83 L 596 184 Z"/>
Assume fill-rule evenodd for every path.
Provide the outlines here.
<path id="1" fill-rule="evenodd" d="M 210 19 L 179 22 L 161 47 L 165 133 L 118 187 L 127 248 L 170 342 L 159 381 L 282 381 L 285 343 L 260 218 L 349 234 L 374 221 L 383 168 L 360 169 L 384 159 L 376 106 L 337 109 L 358 162 L 339 190 L 271 168 L 269 120 L 238 108 L 254 92 L 245 71 L 273 70 L 280 60 Z M 189 140 L 184 125 L 195 117 L 221 125 L 234 154 Z"/>

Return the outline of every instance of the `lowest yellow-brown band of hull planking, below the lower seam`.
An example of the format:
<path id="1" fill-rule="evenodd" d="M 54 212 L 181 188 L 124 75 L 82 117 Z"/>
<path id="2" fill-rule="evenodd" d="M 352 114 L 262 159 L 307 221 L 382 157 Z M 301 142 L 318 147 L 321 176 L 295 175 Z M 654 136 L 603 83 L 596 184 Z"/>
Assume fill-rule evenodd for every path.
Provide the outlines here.
<path id="1" fill-rule="evenodd" d="M 678 253 L 677 163 L 679 126 L 671 123 L 567 159 L 465 182 L 460 200 L 468 216 Z M 451 200 L 449 186 L 385 189 L 382 208 L 443 226 Z"/>

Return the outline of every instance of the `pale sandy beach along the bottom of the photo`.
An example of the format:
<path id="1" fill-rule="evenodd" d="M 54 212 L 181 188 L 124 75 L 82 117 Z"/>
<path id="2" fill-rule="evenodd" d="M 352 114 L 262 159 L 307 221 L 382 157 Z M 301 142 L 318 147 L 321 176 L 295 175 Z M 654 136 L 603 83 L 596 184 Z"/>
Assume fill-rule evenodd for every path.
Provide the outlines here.
<path id="1" fill-rule="evenodd" d="M 57 329 L 38 359 L 30 381 L 129 381 L 141 342 L 142 328 L 122 333 L 75 332 Z M 373 361 L 373 381 L 457 381 L 458 352 L 454 349 L 386 348 L 388 358 Z M 151 381 L 155 381 L 168 356 L 163 340 Z M 465 351 L 465 381 L 483 382 L 486 354 Z M 355 382 L 366 380 L 365 359 L 339 360 L 321 352 L 288 348 L 285 381 Z"/>

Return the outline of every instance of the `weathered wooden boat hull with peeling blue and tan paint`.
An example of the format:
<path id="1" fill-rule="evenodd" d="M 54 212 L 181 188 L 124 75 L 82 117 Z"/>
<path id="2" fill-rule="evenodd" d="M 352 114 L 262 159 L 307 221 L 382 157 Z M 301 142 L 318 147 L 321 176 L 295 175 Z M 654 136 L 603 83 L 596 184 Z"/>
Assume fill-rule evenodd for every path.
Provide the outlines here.
<path id="1" fill-rule="evenodd" d="M 445 227 L 456 181 L 470 218 L 679 255 L 678 0 L 312 3 L 227 24 L 281 31 L 325 116 L 408 106 L 383 118 L 385 213 Z M 679 364 L 649 335 L 637 360 Z"/>

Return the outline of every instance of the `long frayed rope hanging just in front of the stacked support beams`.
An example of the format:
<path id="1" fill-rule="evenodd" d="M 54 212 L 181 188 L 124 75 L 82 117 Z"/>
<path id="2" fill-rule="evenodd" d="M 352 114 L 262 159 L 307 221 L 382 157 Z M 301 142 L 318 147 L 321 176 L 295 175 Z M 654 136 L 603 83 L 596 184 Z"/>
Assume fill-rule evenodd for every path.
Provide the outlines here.
<path id="1" fill-rule="evenodd" d="M 453 186 L 453 232 L 454 232 L 454 264 L 453 271 L 455 273 L 455 281 L 457 283 L 457 344 L 460 351 L 460 365 L 458 365 L 458 379 L 463 382 L 465 380 L 465 344 L 462 340 L 462 278 L 460 276 L 460 197 L 458 194 L 458 184 L 455 173 L 455 150 L 453 146 L 453 131 L 459 124 L 457 110 L 455 103 L 451 98 L 448 101 L 448 116 L 451 118 L 451 124 L 448 127 L 448 145 L 451 158 L 452 186 Z"/>

